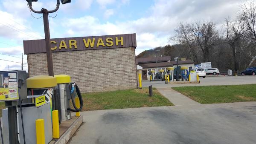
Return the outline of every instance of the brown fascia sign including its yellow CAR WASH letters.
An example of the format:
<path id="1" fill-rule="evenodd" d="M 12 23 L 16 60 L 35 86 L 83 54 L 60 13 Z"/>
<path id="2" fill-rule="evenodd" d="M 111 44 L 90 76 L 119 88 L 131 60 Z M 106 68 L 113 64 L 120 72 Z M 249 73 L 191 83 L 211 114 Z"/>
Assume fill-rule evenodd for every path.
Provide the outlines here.
<path id="1" fill-rule="evenodd" d="M 24 53 L 44 53 L 45 40 L 24 40 Z M 93 49 L 113 49 L 123 47 L 136 48 L 136 34 L 104 35 L 93 37 L 68 37 L 51 39 L 52 52 L 65 52 Z"/>

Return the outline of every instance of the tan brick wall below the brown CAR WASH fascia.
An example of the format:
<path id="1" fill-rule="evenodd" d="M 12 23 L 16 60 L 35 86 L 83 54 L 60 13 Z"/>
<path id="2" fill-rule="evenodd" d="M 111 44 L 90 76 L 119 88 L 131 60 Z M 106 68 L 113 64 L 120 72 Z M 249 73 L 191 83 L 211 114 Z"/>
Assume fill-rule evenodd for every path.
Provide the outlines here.
<path id="1" fill-rule="evenodd" d="M 81 92 L 137 87 L 134 48 L 53 52 L 54 74 L 70 75 Z M 48 75 L 46 53 L 28 54 L 29 77 Z"/>

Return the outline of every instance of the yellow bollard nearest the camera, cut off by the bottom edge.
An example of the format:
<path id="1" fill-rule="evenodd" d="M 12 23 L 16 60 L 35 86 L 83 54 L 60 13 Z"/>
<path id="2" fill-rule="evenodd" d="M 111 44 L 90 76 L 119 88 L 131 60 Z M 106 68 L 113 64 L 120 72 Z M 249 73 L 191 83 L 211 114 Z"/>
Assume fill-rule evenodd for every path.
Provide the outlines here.
<path id="1" fill-rule="evenodd" d="M 45 144 L 44 119 L 35 120 L 36 144 Z"/>

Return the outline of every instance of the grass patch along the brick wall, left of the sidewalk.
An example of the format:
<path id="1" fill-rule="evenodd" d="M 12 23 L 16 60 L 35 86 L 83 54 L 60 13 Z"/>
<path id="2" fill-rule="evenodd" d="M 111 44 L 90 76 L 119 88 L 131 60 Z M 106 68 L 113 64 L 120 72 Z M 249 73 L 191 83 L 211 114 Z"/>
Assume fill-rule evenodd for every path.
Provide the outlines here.
<path id="1" fill-rule="evenodd" d="M 154 96 L 149 97 L 147 88 L 83 93 L 84 106 L 82 110 L 173 106 L 157 89 L 153 88 L 153 93 Z"/>

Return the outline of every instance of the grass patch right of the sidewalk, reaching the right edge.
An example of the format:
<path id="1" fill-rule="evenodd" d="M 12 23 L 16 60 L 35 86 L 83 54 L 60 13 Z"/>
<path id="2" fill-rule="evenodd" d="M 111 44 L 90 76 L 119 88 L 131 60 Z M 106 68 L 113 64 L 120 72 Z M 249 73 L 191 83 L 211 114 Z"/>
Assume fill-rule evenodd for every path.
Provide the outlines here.
<path id="1" fill-rule="evenodd" d="M 201 104 L 256 101 L 256 84 L 173 87 Z"/>

